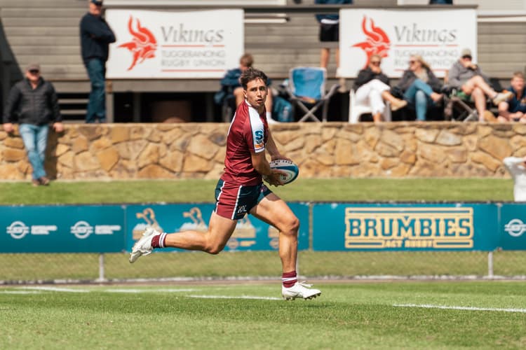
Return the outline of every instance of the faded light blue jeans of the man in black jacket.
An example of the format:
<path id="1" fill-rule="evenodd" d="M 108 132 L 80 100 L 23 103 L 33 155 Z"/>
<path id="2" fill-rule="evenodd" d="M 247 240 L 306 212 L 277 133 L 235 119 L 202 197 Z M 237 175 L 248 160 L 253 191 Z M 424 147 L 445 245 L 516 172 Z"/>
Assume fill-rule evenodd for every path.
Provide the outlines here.
<path id="1" fill-rule="evenodd" d="M 20 124 L 20 136 L 24 141 L 27 158 L 33 167 L 33 179 L 46 176 L 44 160 L 46 159 L 46 146 L 48 144 L 49 125 Z"/>

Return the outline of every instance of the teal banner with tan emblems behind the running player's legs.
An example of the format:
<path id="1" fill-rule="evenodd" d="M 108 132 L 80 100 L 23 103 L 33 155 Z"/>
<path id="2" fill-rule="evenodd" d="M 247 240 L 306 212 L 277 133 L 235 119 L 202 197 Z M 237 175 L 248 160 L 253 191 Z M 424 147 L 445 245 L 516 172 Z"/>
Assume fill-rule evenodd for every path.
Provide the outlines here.
<path id="1" fill-rule="evenodd" d="M 152 204 L 126 207 L 126 251 L 148 226 L 162 232 L 195 230 L 206 232 L 214 204 Z M 298 249 L 309 248 L 309 204 L 289 203 L 290 209 L 299 218 Z M 236 230 L 224 251 L 272 251 L 278 249 L 278 230 L 251 215 L 238 221 Z M 181 251 L 163 249 L 162 251 Z"/>

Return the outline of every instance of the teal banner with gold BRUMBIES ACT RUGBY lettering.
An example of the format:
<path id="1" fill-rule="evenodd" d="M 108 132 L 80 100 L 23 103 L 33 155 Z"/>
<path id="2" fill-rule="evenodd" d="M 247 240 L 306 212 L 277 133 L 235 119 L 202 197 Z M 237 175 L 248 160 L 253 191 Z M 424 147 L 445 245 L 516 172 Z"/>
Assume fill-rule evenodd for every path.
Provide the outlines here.
<path id="1" fill-rule="evenodd" d="M 313 204 L 314 251 L 492 251 L 494 204 Z"/>

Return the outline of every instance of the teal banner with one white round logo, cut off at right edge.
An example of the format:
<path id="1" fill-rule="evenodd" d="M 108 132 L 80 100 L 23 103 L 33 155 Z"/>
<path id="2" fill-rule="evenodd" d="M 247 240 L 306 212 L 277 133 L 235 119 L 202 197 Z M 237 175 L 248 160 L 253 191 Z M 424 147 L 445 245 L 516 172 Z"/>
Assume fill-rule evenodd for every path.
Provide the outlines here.
<path id="1" fill-rule="evenodd" d="M 505 251 L 526 250 L 526 203 L 502 204 L 499 247 Z"/>

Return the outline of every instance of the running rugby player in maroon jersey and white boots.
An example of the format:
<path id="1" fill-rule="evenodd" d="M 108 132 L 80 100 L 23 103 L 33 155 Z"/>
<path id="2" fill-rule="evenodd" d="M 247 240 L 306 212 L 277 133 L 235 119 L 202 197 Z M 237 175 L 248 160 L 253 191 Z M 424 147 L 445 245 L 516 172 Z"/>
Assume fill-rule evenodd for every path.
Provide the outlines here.
<path id="1" fill-rule="evenodd" d="M 148 228 L 135 243 L 130 262 L 148 255 L 154 248 L 181 248 L 217 254 L 246 214 L 273 225 L 279 230 L 279 255 L 283 267 L 282 290 L 285 299 L 310 299 L 321 291 L 299 283 L 296 274 L 297 234 L 299 220 L 288 205 L 272 193 L 262 181 L 268 176 L 274 186 L 283 185 L 281 170 L 271 169 L 267 151 L 272 160 L 288 159 L 279 153 L 272 138 L 265 115 L 267 76 L 249 68 L 241 74 L 245 101 L 240 104 L 231 121 L 227 135 L 227 153 L 224 174 L 215 188 L 215 210 L 210 217 L 208 231 L 184 231 L 167 234 Z"/>

